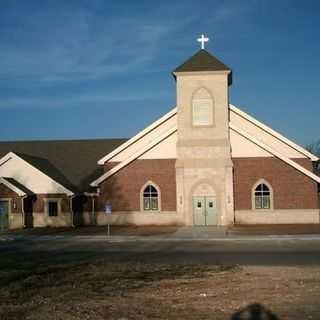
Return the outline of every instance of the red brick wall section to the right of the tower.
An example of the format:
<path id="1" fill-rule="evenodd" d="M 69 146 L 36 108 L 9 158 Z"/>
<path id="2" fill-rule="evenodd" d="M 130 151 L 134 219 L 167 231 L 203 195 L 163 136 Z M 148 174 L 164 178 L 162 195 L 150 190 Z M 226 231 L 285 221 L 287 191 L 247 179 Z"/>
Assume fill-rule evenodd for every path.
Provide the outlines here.
<path id="1" fill-rule="evenodd" d="M 250 210 L 251 190 L 259 179 L 267 180 L 274 192 L 274 209 L 316 209 L 316 182 L 277 158 L 233 158 L 235 210 Z M 312 171 L 308 159 L 293 159 Z"/>

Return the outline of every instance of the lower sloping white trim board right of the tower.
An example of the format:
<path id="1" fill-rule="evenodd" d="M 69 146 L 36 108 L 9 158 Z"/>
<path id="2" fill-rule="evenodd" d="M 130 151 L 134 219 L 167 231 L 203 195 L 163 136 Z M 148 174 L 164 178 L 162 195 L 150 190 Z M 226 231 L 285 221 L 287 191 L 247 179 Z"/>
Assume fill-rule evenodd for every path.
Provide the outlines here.
<path id="1" fill-rule="evenodd" d="M 268 145 L 266 145 L 265 143 L 263 143 L 262 141 L 259 141 L 258 139 L 252 137 L 249 133 L 245 132 L 244 130 L 238 128 L 237 126 L 233 125 L 232 123 L 229 123 L 229 127 L 230 129 L 232 129 L 233 131 L 239 133 L 240 135 L 242 135 L 243 137 L 247 138 L 248 140 L 250 140 L 251 142 L 255 143 L 256 145 L 258 145 L 259 147 L 261 147 L 262 149 L 270 152 L 271 154 L 273 154 L 275 157 L 279 158 L 280 160 L 286 162 L 287 164 L 289 164 L 290 166 L 292 166 L 293 168 L 295 168 L 296 170 L 300 171 L 301 173 L 305 174 L 306 176 L 308 176 L 309 178 L 311 178 L 312 180 L 320 183 L 320 177 L 318 177 L 317 175 L 315 175 L 314 173 L 312 173 L 311 171 L 305 169 L 304 167 L 302 167 L 300 164 L 294 162 L 293 160 L 285 157 L 284 155 L 282 155 L 280 152 L 274 150 L 273 148 L 269 147 Z"/>

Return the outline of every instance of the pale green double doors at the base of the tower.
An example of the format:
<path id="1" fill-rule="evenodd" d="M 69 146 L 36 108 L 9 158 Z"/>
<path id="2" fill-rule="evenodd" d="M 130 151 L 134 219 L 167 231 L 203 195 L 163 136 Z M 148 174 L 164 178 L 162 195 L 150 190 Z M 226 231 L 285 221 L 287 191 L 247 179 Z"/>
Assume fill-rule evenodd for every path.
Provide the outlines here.
<path id="1" fill-rule="evenodd" d="M 195 226 L 214 226 L 218 224 L 216 197 L 193 197 L 193 224 Z"/>

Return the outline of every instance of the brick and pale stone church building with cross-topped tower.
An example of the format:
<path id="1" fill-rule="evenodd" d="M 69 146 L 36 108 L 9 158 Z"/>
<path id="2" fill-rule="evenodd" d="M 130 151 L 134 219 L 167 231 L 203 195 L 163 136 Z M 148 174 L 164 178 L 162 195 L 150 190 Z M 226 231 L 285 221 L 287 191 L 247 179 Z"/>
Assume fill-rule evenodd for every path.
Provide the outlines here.
<path id="1" fill-rule="evenodd" d="M 0 228 L 320 223 L 319 159 L 229 101 L 202 48 L 131 139 L 0 142 Z"/>

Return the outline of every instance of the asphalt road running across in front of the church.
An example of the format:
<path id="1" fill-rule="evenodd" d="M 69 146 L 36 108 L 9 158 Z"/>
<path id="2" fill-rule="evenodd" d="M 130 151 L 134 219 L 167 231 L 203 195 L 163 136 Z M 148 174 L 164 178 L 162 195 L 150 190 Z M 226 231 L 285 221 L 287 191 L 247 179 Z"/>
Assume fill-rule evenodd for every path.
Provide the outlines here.
<path id="1" fill-rule="evenodd" d="M 108 259 L 110 262 L 320 265 L 320 239 L 130 241 L 50 239 L 0 241 L 0 257 L 28 261 Z"/>

